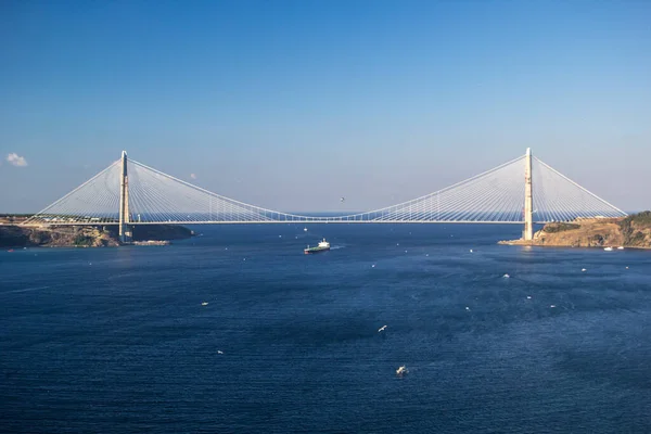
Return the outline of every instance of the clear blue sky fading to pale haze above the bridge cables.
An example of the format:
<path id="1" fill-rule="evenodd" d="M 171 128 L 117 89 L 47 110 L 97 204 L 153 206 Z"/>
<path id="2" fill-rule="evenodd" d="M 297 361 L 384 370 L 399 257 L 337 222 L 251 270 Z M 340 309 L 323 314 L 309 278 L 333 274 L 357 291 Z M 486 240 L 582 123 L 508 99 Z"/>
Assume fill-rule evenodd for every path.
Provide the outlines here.
<path id="1" fill-rule="evenodd" d="M 649 23 L 644 1 L 4 1 L 0 212 L 123 149 L 256 205 L 363 210 L 527 146 L 651 208 Z"/>

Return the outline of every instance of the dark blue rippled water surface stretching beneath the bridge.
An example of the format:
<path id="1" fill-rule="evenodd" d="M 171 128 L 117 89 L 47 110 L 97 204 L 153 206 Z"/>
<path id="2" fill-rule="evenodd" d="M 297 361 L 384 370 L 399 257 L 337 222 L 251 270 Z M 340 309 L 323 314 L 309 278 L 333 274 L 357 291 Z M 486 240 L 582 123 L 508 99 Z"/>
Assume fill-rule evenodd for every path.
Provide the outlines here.
<path id="1" fill-rule="evenodd" d="M 651 432 L 651 251 L 496 245 L 519 226 L 195 229 L 0 252 L 2 431 Z"/>

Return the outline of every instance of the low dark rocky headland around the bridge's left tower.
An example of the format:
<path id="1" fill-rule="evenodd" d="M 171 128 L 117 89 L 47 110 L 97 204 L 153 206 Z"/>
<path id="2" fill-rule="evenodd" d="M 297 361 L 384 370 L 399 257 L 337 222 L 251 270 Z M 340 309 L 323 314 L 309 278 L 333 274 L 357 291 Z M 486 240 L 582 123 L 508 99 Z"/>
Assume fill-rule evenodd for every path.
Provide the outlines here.
<path id="1" fill-rule="evenodd" d="M 135 242 L 183 240 L 193 232 L 182 226 L 151 225 L 133 229 Z M 42 227 L 0 226 L 0 247 L 112 247 L 119 245 L 114 227 Z"/>

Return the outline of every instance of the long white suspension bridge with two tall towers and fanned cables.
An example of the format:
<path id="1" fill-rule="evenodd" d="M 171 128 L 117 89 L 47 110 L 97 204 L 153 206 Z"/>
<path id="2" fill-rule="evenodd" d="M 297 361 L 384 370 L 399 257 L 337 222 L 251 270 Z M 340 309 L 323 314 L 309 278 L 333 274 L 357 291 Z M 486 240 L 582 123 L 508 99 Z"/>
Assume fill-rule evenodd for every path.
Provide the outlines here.
<path id="1" fill-rule="evenodd" d="M 119 225 L 120 240 L 131 229 L 154 224 L 521 224 L 576 218 L 623 217 L 622 209 L 554 170 L 531 150 L 518 158 L 433 193 L 384 208 L 343 216 L 305 216 L 267 209 L 210 192 L 142 163 L 122 157 L 25 226 Z"/>

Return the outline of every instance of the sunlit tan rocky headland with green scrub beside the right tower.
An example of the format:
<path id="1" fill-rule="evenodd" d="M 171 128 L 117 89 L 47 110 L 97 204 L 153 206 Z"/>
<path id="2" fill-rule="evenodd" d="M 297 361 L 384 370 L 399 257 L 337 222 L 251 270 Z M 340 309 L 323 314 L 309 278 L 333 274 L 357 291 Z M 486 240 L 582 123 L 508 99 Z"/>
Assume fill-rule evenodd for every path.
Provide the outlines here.
<path id="1" fill-rule="evenodd" d="M 547 224 L 534 234 L 532 241 L 500 241 L 499 244 L 651 248 L 651 212 L 621 218 L 589 218 Z"/>

